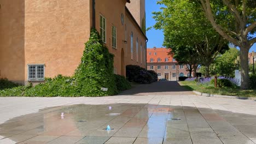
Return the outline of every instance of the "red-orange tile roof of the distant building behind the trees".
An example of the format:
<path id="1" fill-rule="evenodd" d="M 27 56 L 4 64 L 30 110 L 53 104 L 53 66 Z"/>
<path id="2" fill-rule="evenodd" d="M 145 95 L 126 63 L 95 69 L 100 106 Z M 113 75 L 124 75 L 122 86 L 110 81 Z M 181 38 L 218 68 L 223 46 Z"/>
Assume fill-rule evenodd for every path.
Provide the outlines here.
<path id="1" fill-rule="evenodd" d="M 156 52 L 156 55 L 155 55 Z M 168 58 L 167 62 L 172 62 L 173 57 L 170 55 L 171 50 L 166 48 L 148 48 L 147 49 L 147 63 L 150 63 L 150 59 L 153 58 L 153 62 L 158 62 L 158 58 L 161 59 L 160 62 L 165 62 L 165 58 Z M 149 55 L 151 53 L 151 55 Z"/>

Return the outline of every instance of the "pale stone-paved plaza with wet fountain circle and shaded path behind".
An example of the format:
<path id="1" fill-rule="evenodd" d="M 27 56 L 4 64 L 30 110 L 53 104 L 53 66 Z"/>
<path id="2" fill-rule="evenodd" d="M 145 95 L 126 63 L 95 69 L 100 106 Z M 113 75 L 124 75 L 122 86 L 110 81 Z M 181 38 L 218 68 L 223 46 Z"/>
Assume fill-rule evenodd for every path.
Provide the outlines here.
<path id="1" fill-rule="evenodd" d="M 0 108 L 1 144 L 256 143 L 256 101 L 197 96 L 177 82 L 111 97 L 0 97 Z"/>

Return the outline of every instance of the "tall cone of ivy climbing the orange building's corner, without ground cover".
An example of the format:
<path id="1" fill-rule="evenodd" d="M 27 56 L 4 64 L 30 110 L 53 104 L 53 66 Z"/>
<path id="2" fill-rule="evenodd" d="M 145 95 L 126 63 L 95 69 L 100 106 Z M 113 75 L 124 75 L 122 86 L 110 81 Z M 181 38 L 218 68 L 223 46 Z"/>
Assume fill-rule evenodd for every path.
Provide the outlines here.
<path id="1" fill-rule="evenodd" d="M 100 35 L 92 29 L 91 37 L 85 44 L 86 49 L 78 69 L 75 71 L 75 85 L 83 96 L 104 96 L 117 94 L 113 74 L 113 55 L 100 41 Z M 104 92 L 101 88 L 108 88 Z"/>

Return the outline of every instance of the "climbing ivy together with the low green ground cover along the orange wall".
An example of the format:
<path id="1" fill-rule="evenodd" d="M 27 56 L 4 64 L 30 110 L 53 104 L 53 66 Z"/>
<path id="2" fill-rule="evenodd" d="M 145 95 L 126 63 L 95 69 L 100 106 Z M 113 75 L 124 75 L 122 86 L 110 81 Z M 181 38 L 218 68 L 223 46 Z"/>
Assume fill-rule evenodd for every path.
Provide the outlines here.
<path id="1" fill-rule="evenodd" d="M 8 83 L 4 85 L 7 88 L 16 86 L 5 80 L 4 83 Z M 122 89 L 129 87 L 125 82 L 121 83 Z M 108 91 L 103 91 L 102 88 L 107 88 Z M 91 37 L 85 43 L 83 57 L 74 76 L 58 75 L 54 79 L 46 78 L 45 83 L 34 87 L 30 84 L 0 91 L 1 96 L 30 97 L 97 97 L 117 93 L 118 89 L 113 74 L 113 55 L 102 44 L 96 29 L 91 30 Z"/>

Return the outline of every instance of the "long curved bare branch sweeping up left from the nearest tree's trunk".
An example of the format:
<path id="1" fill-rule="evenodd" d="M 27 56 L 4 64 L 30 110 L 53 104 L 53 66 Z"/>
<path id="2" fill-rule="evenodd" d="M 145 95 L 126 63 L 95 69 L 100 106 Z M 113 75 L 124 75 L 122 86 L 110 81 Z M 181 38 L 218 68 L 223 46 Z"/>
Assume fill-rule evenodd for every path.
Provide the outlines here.
<path id="1" fill-rule="evenodd" d="M 210 5 L 210 0 L 197 0 L 197 1 L 200 1 L 201 2 L 201 6 L 202 6 L 202 9 L 203 11 L 205 12 L 205 15 L 207 17 L 207 19 L 212 23 L 212 26 L 214 29 L 216 29 L 216 31 L 222 35 L 222 37 L 224 37 L 226 40 L 230 41 L 231 43 L 237 45 L 237 46 L 241 46 L 241 43 L 240 41 L 238 41 L 237 39 L 235 38 L 232 38 L 230 35 L 226 34 L 224 31 L 223 31 L 223 27 L 222 26 L 219 26 L 214 17 L 213 17 L 213 14 L 212 14 L 212 9 L 211 9 L 211 5 Z M 237 33 L 236 33 L 237 35 Z"/>

